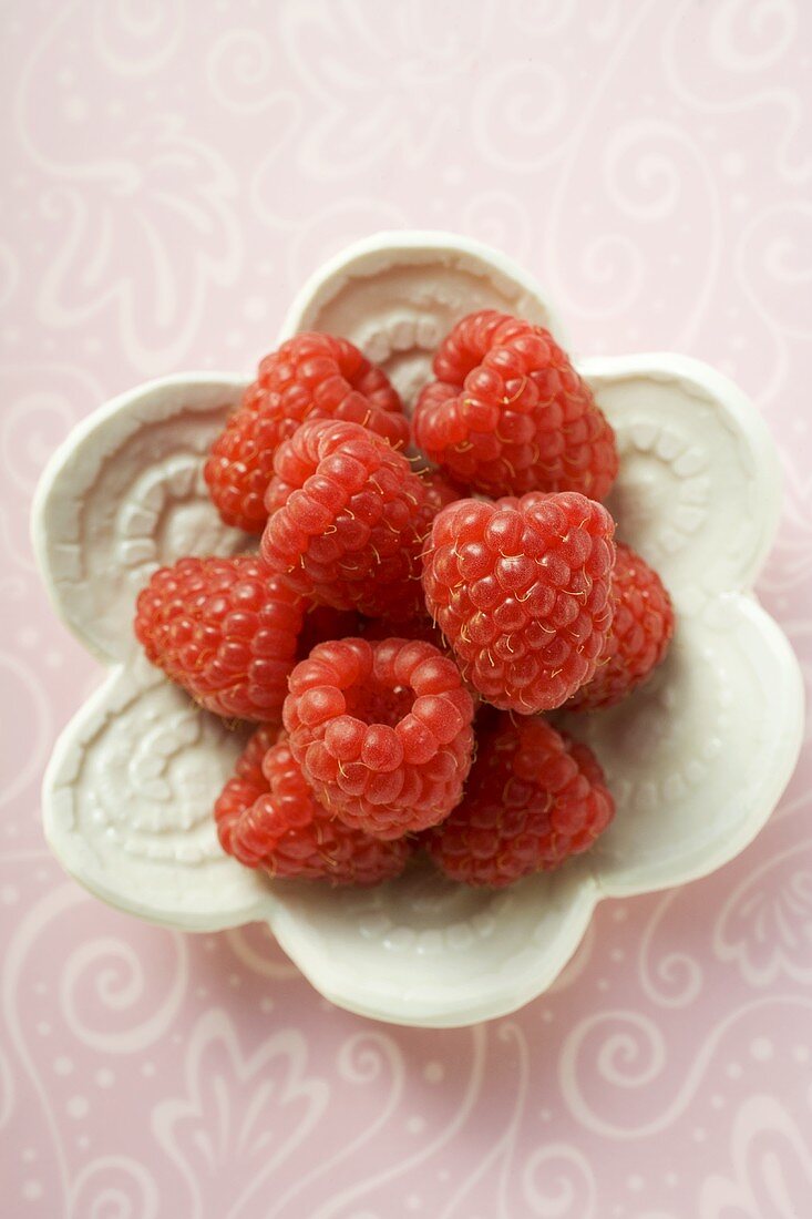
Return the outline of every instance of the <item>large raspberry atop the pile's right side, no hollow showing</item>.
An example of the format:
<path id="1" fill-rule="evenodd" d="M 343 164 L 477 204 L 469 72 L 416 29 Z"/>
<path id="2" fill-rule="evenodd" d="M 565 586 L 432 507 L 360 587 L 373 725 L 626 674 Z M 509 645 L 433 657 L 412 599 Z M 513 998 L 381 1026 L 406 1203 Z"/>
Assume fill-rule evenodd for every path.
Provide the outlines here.
<path id="1" fill-rule="evenodd" d="M 612 623 L 613 531 L 606 508 L 574 491 L 438 513 L 426 603 L 483 698 L 550 711 L 593 677 Z"/>

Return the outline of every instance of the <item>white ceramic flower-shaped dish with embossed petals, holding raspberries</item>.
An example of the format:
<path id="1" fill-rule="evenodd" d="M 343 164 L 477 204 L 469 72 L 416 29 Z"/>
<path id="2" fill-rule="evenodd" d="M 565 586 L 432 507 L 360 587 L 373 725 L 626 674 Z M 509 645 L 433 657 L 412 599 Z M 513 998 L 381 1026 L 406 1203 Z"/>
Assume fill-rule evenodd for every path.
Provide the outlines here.
<path id="1" fill-rule="evenodd" d="M 410 397 L 441 335 L 486 305 L 558 330 L 539 286 L 494 251 L 447 234 L 382 234 L 310 280 L 284 335 L 346 334 Z M 735 385 L 695 361 L 579 367 L 618 435 L 619 535 L 658 568 L 679 616 L 650 685 L 575 725 L 618 803 L 599 845 L 499 895 L 419 869 L 371 892 L 273 884 L 222 855 L 210 811 L 240 739 L 139 657 L 130 625 L 156 566 L 245 546 L 219 523 L 201 479 L 245 379 L 189 374 L 90 416 L 54 456 L 34 505 L 54 605 L 109 667 L 44 783 L 48 840 L 80 884 L 185 930 L 267 920 L 333 1002 L 447 1026 L 544 991 L 601 897 L 682 884 L 751 841 L 792 772 L 803 718 L 795 657 L 751 591 L 778 518 L 773 442 Z"/>

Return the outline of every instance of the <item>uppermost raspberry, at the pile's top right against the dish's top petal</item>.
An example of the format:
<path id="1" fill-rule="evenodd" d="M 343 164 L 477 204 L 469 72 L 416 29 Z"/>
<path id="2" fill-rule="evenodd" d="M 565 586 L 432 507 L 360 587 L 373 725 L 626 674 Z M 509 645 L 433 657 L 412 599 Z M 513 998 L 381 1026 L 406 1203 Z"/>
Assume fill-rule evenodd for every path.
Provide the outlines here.
<path id="1" fill-rule="evenodd" d="M 483 310 L 455 325 L 412 421 L 416 442 L 485 495 L 579 491 L 602 500 L 617 474 L 614 434 L 552 335 Z"/>

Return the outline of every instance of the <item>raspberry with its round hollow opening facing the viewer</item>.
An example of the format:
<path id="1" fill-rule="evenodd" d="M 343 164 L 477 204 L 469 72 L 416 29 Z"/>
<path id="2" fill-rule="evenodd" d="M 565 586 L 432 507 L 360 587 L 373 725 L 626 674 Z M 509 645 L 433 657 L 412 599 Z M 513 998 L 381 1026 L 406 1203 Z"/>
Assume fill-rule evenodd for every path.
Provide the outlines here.
<path id="1" fill-rule="evenodd" d="M 290 675 L 283 719 L 317 798 L 355 829 L 395 839 L 462 795 L 473 701 L 430 644 L 319 644 Z"/>

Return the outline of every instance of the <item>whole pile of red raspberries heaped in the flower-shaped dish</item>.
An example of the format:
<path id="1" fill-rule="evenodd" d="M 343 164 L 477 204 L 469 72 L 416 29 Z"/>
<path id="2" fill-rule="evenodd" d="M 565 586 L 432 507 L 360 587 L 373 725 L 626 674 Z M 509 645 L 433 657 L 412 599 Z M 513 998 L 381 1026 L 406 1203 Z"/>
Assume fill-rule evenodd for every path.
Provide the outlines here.
<path id="1" fill-rule="evenodd" d="M 149 659 L 256 725 L 215 818 L 273 876 L 374 885 L 423 851 L 501 887 L 585 851 L 612 796 L 543 717 L 624 698 L 673 633 L 614 542 L 614 435 L 552 335 L 472 313 L 433 371 L 410 419 L 346 339 L 266 356 L 205 467 L 258 552 L 182 558 L 138 599 Z"/>

